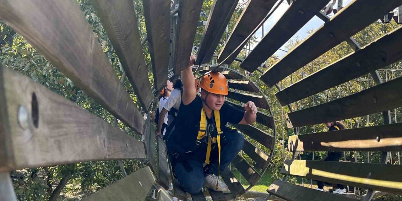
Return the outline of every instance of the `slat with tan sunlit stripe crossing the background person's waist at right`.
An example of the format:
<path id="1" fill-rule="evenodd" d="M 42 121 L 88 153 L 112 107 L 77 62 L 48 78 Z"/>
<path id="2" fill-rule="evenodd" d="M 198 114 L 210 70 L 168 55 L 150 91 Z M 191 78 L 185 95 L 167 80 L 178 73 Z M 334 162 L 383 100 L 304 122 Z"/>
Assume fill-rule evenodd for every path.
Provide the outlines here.
<path id="1" fill-rule="evenodd" d="M 402 151 L 402 123 L 289 136 L 288 151 Z"/>

